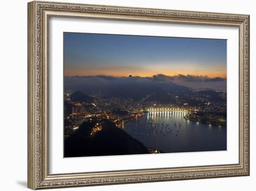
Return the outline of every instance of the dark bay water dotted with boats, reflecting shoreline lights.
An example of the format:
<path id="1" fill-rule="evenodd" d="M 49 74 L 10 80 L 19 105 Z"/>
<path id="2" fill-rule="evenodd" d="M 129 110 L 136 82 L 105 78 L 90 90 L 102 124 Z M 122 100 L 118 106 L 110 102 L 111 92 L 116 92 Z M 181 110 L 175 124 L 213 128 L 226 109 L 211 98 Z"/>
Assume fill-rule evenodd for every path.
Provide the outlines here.
<path id="1" fill-rule="evenodd" d="M 163 152 L 225 151 L 227 128 L 184 119 L 187 112 L 149 112 L 122 128 L 146 147 Z"/>

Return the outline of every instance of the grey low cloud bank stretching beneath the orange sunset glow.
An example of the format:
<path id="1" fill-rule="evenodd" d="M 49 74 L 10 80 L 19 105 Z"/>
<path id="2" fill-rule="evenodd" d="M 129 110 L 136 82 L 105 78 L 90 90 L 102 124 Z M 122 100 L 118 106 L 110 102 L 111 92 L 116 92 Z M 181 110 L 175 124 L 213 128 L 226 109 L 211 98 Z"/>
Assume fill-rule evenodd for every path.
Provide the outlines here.
<path id="1" fill-rule="evenodd" d="M 200 83 L 199 83 L 200 82 Z M 209 88 L 214 86 L 226 86 L 226 79 L 208 76 L 182 75 L 167 76 L 164 74 L 154 75 L 152 77 L 113 77 L 113 76 L 73 76 L 64 78 L 65 92 L 83 91 L 87 93 L 107 92 L 112 89 L 124 89 L 131 86 L 137 88 L 161 87 L 169 89 L 174 86 L 187 86 L 197 89 L 196 84 L 204 83 Z M 217 84 L 216 84 L 217 83 Z M 178 87 L 176 87 L 178 88 Z"/>

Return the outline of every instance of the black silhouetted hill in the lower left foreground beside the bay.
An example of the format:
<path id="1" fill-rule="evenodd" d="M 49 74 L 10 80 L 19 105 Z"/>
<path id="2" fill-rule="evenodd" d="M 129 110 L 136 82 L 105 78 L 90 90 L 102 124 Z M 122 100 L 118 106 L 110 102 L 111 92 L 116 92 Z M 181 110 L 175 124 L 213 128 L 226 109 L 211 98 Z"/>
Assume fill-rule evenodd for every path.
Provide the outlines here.
<path id="1" fill-rule="evenodd" d="M 91 135 L 96 121 L 83 122 L 64 144 L 65 157 L 149 154 L 147 148 L 127 132 L 104 119 L 102 130 Z"/>

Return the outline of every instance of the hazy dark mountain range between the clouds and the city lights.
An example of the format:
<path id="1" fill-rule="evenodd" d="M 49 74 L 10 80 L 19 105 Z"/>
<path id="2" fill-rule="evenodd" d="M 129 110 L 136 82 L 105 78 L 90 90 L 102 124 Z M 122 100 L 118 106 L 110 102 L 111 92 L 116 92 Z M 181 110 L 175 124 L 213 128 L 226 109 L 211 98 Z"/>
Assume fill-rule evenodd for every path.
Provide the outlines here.
<path id="1" fill-rule="evenodd" d="M 83 89 L 83 91 L 80 91 Z M 151 83 L 145 83 L 141 79 L 128 79 L 123 82 L 115 82 L 111 81 L 108 84 L 95 85 L 94 89 L 96 92 L 101 92 L 104 94 L 104 98 L 111 97 L 121 97 L 121 98 L 130 98 L 134 101 L 155 101 L 161 104 L 167 104 L 175 101 L 175 96 L 183 97 L 184 95 L 188 97 L 200 96 L 202 98 L 207 98 L 210 101 L 223 101 L 224 99 L 221 96 L 220 92 L 216 92 L 211 89 L 201 89 L 194 90 L 185 86 L 176 85 L 170 81 L 160 81 L 155 82 L 151 81 Z M 93 102 L 94 97 L 88 96 L 88 94 L 84 93 L 94 93 L 90 86 L 85 84 L 84 86 L 79 87 L 79 91 L 71 94 L 71 101 L 79 101 L 79 102 Z M 187 100 L 188 103 L 193 103 L 193 100 Z M 193 102 L 193 103 L 192 103 Z"/>

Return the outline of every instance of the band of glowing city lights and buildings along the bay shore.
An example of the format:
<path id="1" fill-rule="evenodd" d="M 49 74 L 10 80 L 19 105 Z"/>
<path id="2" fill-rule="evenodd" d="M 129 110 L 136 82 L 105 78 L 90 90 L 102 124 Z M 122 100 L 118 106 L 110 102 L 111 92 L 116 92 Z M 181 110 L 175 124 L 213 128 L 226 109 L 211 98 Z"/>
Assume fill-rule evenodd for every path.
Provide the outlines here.
<path id="1" fill-rule="evenodd" d="M 67 94 L 67 96 L 70 96 Z M 156 119 L 157 117 L 162 118 L 162 116 L 171 116 L 172 114 L 174 116 L 178 116 L 178 118 L 184 117 L 187 120 L 187 123 L 189 123 L 189 119 L 196 122 L 196 125 L 200 124 L 203 120 L 208 120 L 206 122 L 213 123 L 213 124 L 225 124 L 226 119 L 216 117 L 213 115 L 207 115 L 208 112 L 216 112 L 220 109 L 225 108 L 225 105 L 215 105 L 213 103 L 210 103 L 207 99 L 203 98 L 203 101 L 208 103 L 207 105 L 203 106 L 189 106 L 186 99 L 183 99 L 182 97 L 179 99 L 176 99 L 176 103 L 172 103 L 169 105 L 163 105 L 159 104 L 156 106 L 152 106 L 152 103 L 145 103 L 142 100 L 143 103 L 136 103 L 129 105 L 129 100 L 120 99 L 120 98 L 111 98 L 108 101 L 104 99 L 98 99 L 94 102 L 85 103 L 85 102 L 72 102 L 70 100 L 70 97 L 67 98 L 67 96 L 64 97 L 65 101 L 73 105 L 72 112 L 69 112 L 65 114 L 65 119 L 67 119 L 71 125 L 65 126 L 65 128 L 69 128 L 71 130 L 77 130 L 79 128 L 79 125 L 83 121 L 99 121 L 98 119 L 109 119 L 111 122 L 114 122 L 117 127 L 124 126 L 125 123 L 127 123 L 131 119 L 138 119 L 139 117 L 145 115 L 148 113 L 148 116 L 152 119 Z M 94 96 L 93 96 L 94 97 Z M 202 100 L 202 97 L 195 97 L 194 100 L 200 101 Z M 127 101 L 127 102 L 126 102 Z M 93 105 L 94 107 L 91 107 L 89 109 L 88 105 Z M 152 107 L 148 107 L 147 105 L 150 105 Z M 181 106 L 182 105 L 182 106 Z M 156 108 L 156 107 L 158 108 Z M 173 106 L 172 108 L 170 106 Z M 181 108 L 179 108 L 181 106 Z M 93 109 L 92 109 L 93 108 Z M 115 114 L 112 112 L 113 108 L 121 108 L 123 111 L 127 111 L 127 114 L 125 116 L 118 116 L 118 114 Z M 144 112 L 143 112 L 144 111 Z M 170 112 L 170 113 L 169 113 Z M 189 112 L 189 113 L 186 113 Z M 167 114 L 166 114 L 167 113 Z M 197 114 L 197 113 L 203 113 L 203 114 Z M 206 113 L 206 114 L 204 114 Z M 160 114 L 158 116 L 158 114 Z M 150 118 L 148 117 L 148 118 Z M 89 119 L 90 118 L 90 119 Z M 125 122 L 123 122 L 124 120 Z M 100 122 L 101 123 L 101 122 Z M 95 123 L 94 130 L 92 129 L 90 135 L 94 135 L 94 133 L 101 131 L 102 126 L 100 123 Z M 194 122 L 193 122 L 194 124 Z M 212 125 L 209 124 L 209 127 Z M 221 128 L 221 125 L 218 125 L 218 128 Z"/>

